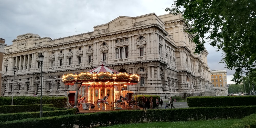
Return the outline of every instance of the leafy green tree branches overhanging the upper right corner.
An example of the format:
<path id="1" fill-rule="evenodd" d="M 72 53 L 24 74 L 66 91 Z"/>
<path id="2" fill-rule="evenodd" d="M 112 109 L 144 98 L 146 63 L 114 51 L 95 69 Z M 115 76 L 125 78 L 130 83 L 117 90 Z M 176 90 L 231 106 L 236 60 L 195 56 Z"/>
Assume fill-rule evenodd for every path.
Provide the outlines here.
<path id="1" fill-rule="evenodd" d="M 187 32 L 195 35 L 195 53 L 203 51 L 206 42 L 223 51 L 220 63 L 235 70 L 232 81 L 240 83 L 244 70 L 255 70 L 255 0 L 175 0 L 165 10 L 182 14 L 191 24 Z"/>

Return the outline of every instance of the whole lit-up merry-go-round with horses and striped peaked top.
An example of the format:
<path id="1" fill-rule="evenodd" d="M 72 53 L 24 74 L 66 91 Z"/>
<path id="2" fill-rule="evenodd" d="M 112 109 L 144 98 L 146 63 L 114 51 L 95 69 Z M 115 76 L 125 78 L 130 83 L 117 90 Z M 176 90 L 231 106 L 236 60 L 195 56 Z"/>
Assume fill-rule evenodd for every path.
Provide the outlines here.
<path id="1" fill-rule="evenodd" d="M 138 74 L 118 72 L 104 65 L 88 72 L 64 74 L 64 84 L 74 86 L 74 91 L 68 92 L 73 95 L 68 97 L 67 106 L 73 105 L 79 111 L 117 110 L 125 108 L 121 106 L 126 106 L 125 102 L 132 101 L 128 108 L 134 108 L 136 95 L 132 96 L 133 91 L 127 90 L 127 87 L 137 86 L 139 78 Z M 71 99 L 73 103 L 70 102 Z"/>

